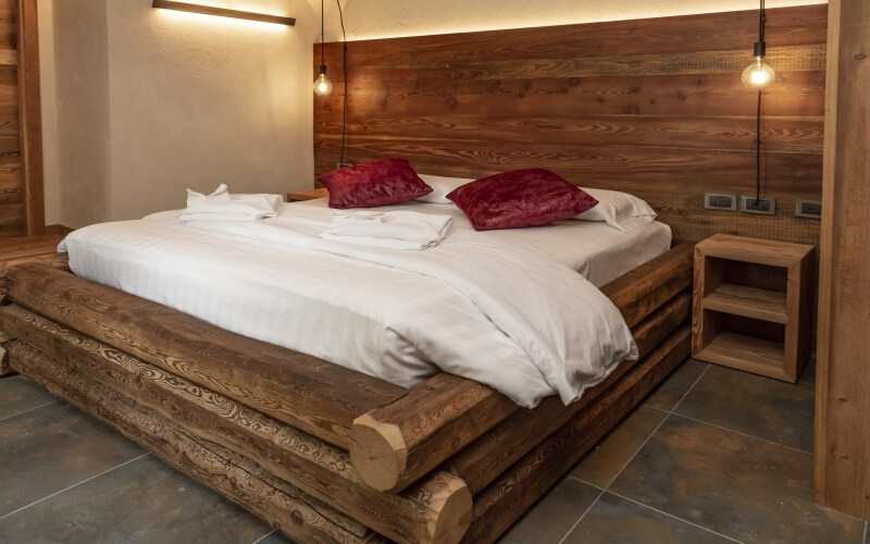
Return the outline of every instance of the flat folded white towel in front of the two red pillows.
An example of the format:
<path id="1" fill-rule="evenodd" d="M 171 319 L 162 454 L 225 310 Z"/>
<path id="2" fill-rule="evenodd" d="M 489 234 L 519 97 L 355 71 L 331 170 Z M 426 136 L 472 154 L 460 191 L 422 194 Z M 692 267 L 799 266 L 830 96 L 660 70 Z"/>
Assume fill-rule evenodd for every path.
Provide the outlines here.
<path id="1" fill-rule="evenodd" d="M 453 231 L 449 215 L 415 211 L 340 212 L 321 237 L 333 242 L 387 249 L 422 250 L 437 246 Z"/>

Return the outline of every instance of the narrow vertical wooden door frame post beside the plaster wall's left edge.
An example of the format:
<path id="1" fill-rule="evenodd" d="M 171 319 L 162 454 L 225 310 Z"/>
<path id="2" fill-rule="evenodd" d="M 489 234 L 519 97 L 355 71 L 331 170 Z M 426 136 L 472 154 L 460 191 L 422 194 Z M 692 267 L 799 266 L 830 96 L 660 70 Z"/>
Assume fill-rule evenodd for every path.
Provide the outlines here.
<path id="1" fill-rule="evenodd" d="M 42 108 L 39 94 L 37 0 L 18 0 L 18 126 L 25 236 L 46 231 L 42 186 Z"/>

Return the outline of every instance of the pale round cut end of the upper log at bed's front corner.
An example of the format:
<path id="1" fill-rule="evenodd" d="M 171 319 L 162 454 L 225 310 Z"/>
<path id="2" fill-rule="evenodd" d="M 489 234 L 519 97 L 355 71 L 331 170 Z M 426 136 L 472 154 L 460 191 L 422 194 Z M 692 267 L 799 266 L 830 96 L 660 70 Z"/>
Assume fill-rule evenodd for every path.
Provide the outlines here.
<path id="1" fill-rule="evenodd" d="M 398 491 L 408 458 L 398 425 L 360 416 L 350 429 L 349 450 L 350 462 L 363 482 L 377 491 Z"/>

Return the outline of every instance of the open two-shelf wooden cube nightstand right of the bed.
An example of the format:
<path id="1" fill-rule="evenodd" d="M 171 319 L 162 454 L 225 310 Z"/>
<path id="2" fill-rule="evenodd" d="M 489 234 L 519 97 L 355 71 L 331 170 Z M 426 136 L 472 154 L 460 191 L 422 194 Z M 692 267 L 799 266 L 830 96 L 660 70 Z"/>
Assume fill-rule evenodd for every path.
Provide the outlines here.
<path id="1" fill-rule="evenodd" d="M 796 382 L 809 357 L 813 249 L 724 234 L 695 246 L 692 356 Z"/>

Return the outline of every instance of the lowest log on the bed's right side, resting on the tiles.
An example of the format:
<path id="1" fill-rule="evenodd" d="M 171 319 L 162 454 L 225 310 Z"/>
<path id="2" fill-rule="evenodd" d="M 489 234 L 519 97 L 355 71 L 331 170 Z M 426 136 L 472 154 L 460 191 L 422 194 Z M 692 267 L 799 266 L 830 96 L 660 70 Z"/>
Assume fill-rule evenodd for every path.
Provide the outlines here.
<path id="1" fill-rule="evenodd" d="M 494 542 L 689 354 L 682 326 L 598 401 L 547 437 L 474 497 L 463 542 Z"/>

